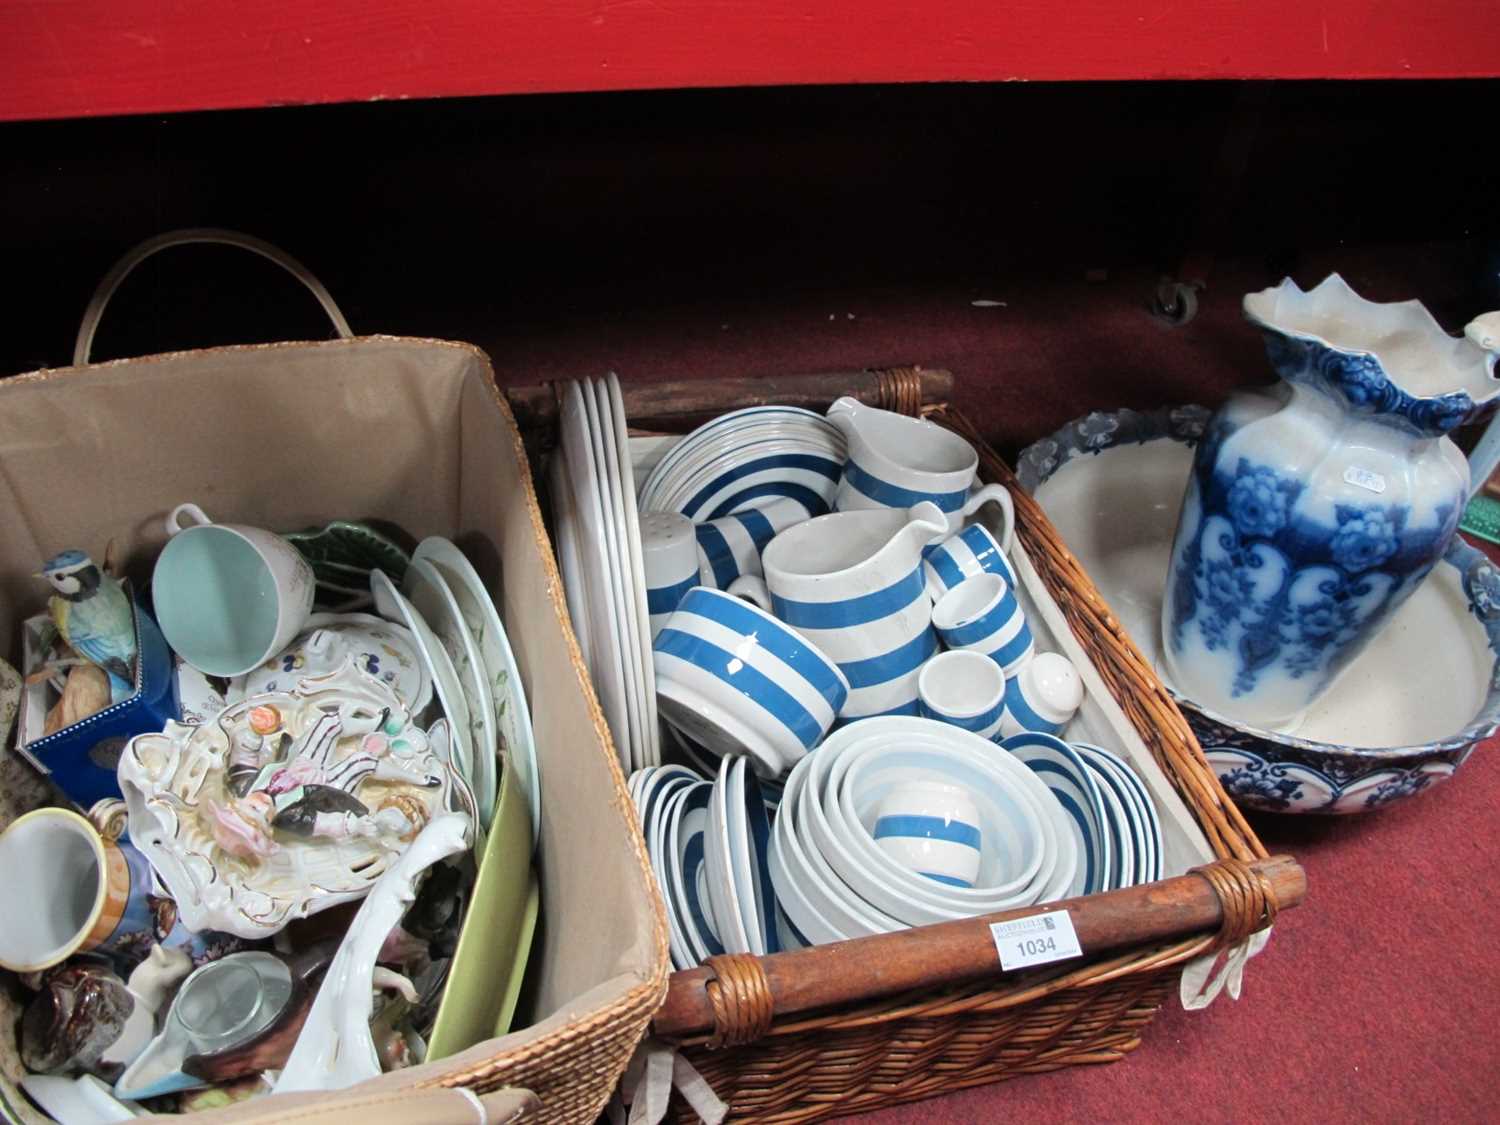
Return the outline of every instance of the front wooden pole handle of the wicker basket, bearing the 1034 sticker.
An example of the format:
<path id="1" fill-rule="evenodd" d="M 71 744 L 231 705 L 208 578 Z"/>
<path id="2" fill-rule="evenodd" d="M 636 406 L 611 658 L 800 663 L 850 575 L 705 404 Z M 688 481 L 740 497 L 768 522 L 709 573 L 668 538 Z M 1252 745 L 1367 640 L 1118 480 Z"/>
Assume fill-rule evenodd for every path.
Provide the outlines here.
<path id="1" fill-rule="evenodd" d="M 764 1035 L 772 1016 L 868 1004 L 918 988 L 934 994 L 1008 975 L 999 966 L 990 924 L 1047 910 L 1068 910 L 1084 958 L 1192 934 L 1218 933 L 1220 945 L 1233 945 L 1305 894 L 1306 876 L 1290 855 L 1254 862 L 1221 860 L 1124 891 L 770 957 L 714 957 L 698 969 L 672 974 L 666 1004 L 651 1028 L 663 1040 L 708 1036 L 711 1046 L 738 1046 Z"/>

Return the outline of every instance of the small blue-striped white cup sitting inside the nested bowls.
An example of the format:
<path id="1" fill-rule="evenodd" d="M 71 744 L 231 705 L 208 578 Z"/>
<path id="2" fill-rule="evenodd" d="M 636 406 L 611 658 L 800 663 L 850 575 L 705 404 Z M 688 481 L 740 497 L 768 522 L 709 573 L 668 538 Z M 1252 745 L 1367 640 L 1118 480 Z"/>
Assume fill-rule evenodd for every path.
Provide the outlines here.
<path id="1" fill-rule="evenodd" d="M 950 886 L 974 886 L 980 874 L 980 810 L 948 782 L 914 782 L 874 813 L 876 844 L 918 874 Z"/>

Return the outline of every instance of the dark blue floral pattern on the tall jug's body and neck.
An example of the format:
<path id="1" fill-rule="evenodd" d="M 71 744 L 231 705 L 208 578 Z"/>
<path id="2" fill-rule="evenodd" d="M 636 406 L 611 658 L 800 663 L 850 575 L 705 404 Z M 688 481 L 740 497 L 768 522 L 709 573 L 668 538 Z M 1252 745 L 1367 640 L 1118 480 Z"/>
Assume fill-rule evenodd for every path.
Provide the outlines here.
<path id="1" fill-rule="evenodd" d="M 1350 411 L 1389 416 L 1404 430 L 1436 440 L 1444 432 L 1437 420 L 1461 422 L 1473 408 L 1467 394 L 1412 399 L 1372 356 L 1274 328 L 1264 334 L 1287 382 L 1312 386 Z M 1282 410 L 1299 408 L 1288 400 Z M 1178 658 L 1191 658 L 1196 632 L 1209 652 L 1232 652 L 1232 698 L 1284 675 L 1305 681 L 1311 700 L 1432 568 L 1458 528 L 1464 496 L 1424 498 L 1430 512 L 1418 526 L 1400 490 L 1372 494 L 1370 504 L 1334 504 L 1329 524 L 1310 514 L 1326 500 L 1308 494 L 1305 476 L 1246 456 L 1228 464 L 1222 448 L 1238 426 L 1233 411 L 1220 411 L 1197 447 L 1182 516 L 1182 526 L 1196 531 L 1173 555 L 1167 644 Z"/>

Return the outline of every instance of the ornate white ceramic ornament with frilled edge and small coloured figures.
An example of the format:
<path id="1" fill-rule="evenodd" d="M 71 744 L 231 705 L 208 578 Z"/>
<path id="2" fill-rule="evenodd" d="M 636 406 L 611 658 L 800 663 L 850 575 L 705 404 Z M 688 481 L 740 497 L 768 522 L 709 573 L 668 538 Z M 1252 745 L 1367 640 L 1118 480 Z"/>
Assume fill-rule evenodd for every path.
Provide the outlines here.
<path id="1" fill-rule="evenodd" d="M 138 735 L 118 777 L 130 838 L 184 924 L 249 939 L 363 897 L 459 804 L 428 735 L 352 663 Z"/>

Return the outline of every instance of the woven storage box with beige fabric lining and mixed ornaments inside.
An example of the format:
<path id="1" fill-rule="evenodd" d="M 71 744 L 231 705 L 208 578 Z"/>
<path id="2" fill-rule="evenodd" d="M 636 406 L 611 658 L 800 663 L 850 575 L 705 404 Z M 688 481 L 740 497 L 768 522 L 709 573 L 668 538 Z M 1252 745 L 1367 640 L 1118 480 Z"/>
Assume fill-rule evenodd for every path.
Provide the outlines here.
<path id="1" fill-rule="evenodd" d="M 380 518 L 458 542 L 496 592 L 532 708 L 543 814 L 542 924 L 530 1008 L 500 1040 L 327 1095 L 261 1098 L 204 1120 L 476 1119 L 483 1108 L 591 1119 L 666 975 L 664 924 L 608 732 L 570 630 L 525 452 L 489 360 L 435 340 L 360 338 L 216 348 L 0 382 L 0 630 L 18 662 L 21 616 L 45 600 L 39 560 L 116 540 L 141 582 L 162 514 L 195 500 L 225 520 L 297 530 Z M 16 754 L 0 759 L 0 824 L 52 800 Z M 15 1086 L 21 988 L 0 988 L 0 1096 Z M 444 1088 L 470 1094 L 444 1095 Z M 384 1114 L 384 1116 L 382 1116 Z M 316 1114 L 315 1114 L 316 1116 Z"/>

